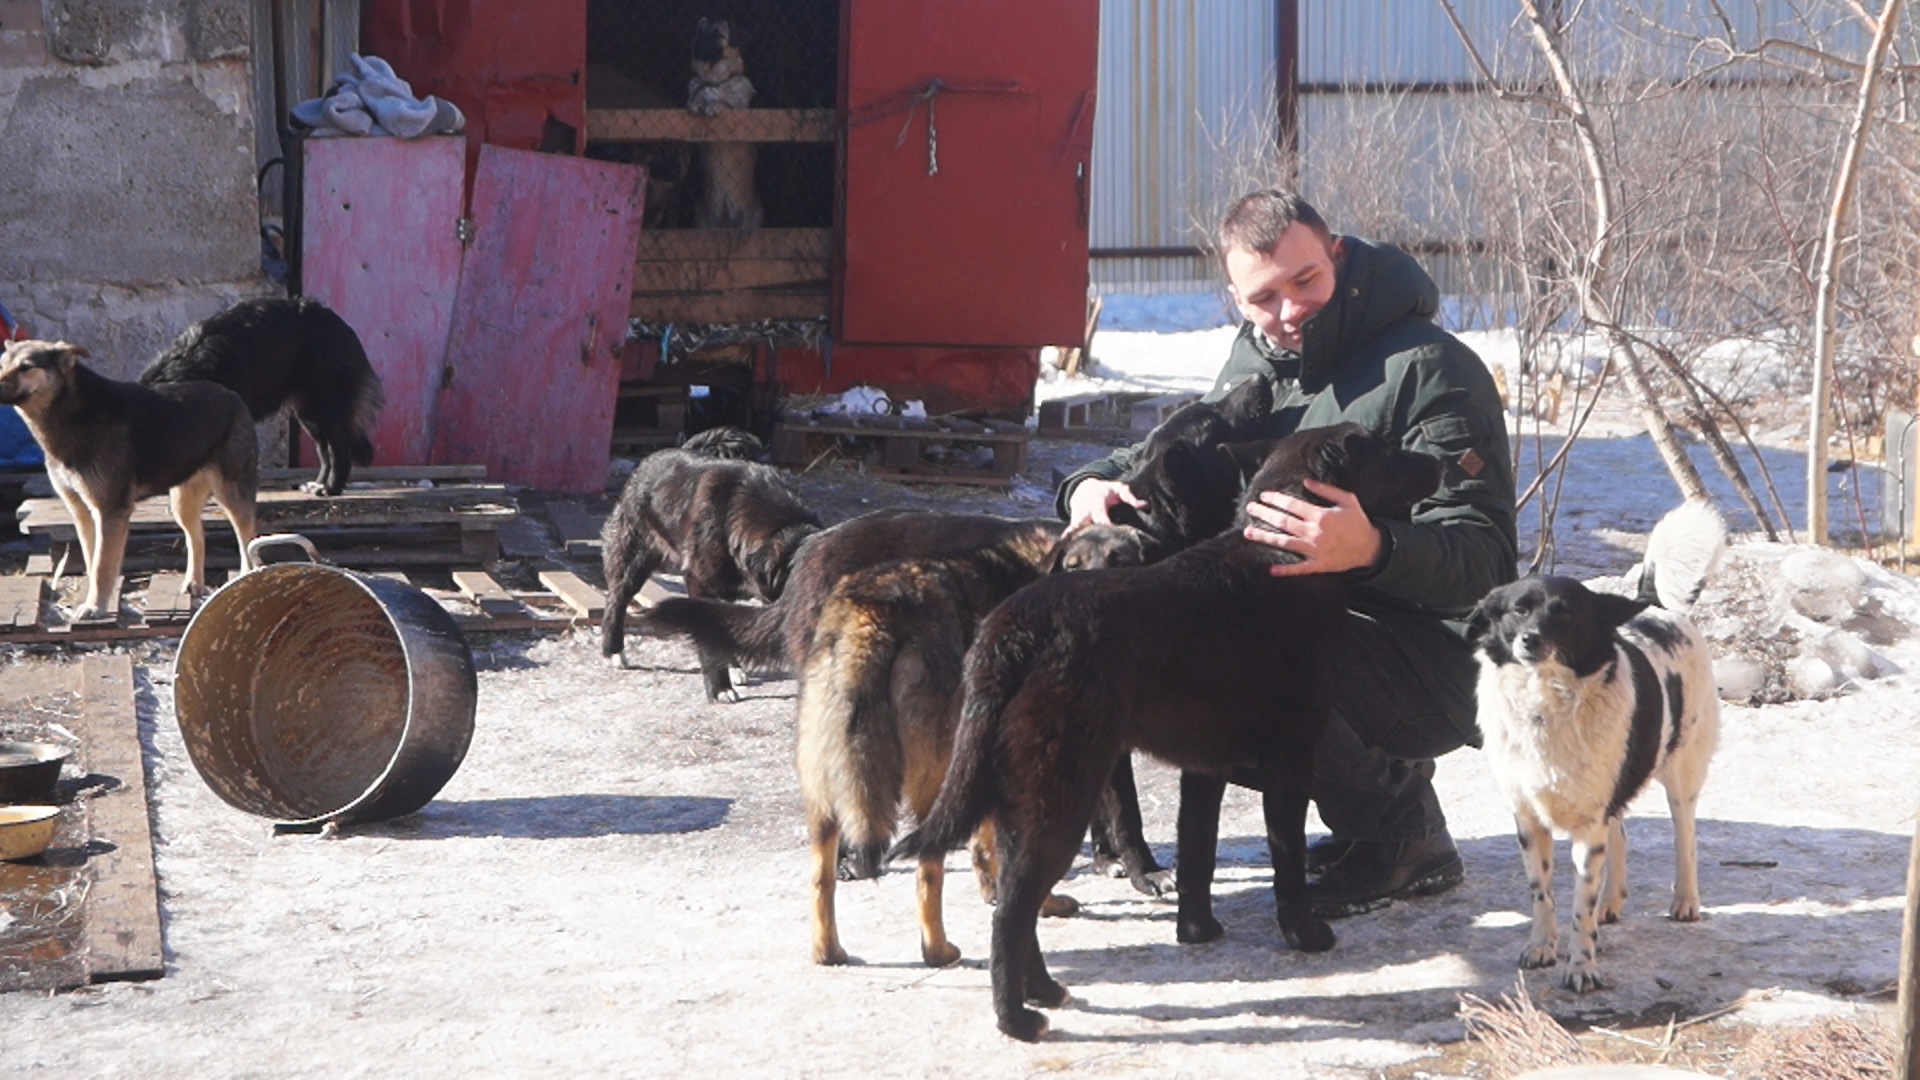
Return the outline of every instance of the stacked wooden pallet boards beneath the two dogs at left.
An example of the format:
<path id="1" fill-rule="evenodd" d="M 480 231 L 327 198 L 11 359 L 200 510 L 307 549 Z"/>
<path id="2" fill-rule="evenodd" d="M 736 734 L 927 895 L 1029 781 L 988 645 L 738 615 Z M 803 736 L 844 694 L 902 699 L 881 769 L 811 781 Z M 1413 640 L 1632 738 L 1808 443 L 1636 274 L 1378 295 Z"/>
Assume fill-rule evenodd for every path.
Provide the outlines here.
<path id="1" fill-rule="evenodd" d="M 478 467 L 440 467 L 470 473 Z M 369 469 L 371 473 L 372 469 Z M 278 480 L 300 482 L 311 473 L 280 469 Z M 490 563 L 499 557 L 499 527 L 518 517 L 518 503 L 501 484 L 436 482 L 419 486 L 407 482 L 420 469 L 394 469 L 388 479 L 361 486 L 355 482 L 338 496 L 309 496 L 300 490 L 259 492 L 261 532 L 300 532 L 319 546 L 330 563 L 346 567 L 388 565 L 445 565 Z M 357 475 L 357 473 L 355 473 Z M 207 565 L 238 567 L 240 553 L 227 515 L 207 503 Z M 58 498 L 31 498 L 19 507 L 19 528 L 29 538 L 44 538 L 58 565 L 65 559 L 69 571 L 84 567 L 79 532 L 65 503 Z M 150 548 L 163 544 L 159 553 Z M 173 523 L 165 496 L 140 500 L 134 507 L 123 569 L 144 571 L 179 567 L 184 561 L 180 528 Z"/>

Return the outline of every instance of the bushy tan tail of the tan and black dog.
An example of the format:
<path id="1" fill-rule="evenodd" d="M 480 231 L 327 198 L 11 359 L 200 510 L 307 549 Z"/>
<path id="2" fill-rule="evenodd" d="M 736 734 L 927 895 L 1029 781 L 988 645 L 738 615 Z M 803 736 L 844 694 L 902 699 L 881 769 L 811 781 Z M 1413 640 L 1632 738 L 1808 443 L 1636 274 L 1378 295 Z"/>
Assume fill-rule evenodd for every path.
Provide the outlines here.
<path id="1" fill-rule="evenodd" d="M 891 625 L 854 600 L 828 600 L 801 673 L 801 796 L 810 817 L 839 822 L 856 878 L 879 876 L 906 786 Z"/>

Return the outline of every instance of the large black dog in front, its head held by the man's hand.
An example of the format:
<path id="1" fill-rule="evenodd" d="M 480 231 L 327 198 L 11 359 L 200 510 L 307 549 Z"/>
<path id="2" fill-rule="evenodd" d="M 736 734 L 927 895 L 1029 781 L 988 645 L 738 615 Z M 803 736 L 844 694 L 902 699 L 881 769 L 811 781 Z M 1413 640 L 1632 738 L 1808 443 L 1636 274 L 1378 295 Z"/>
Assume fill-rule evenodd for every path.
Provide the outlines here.
<path id="1" fill-rule="evenodd" d="M 1271 444 L 1248 490 L 1313 498 L 1306 479 L 1354 492 L 1377 519 L 1405 517 L 1438 486 L 1440 461 L 1338 425 Z M 891 855 L 939 855 L 981 821 L 998 822 L 1006 847 L 991 967 L 1002 1032 L 1035 1040 L 1046 1017 L 1027 1003 L 1068 999 L 1046 972 L 1035 919 L 1129 749 L 1183 771 L 1181 942 L 1221 934 L 1212 899 L 1219 801 L 1227 774 L 1250 765 L 1281 932 L 1302 951 L 1332 947 L 1306 899 L 1306 809 L 1350 586 L 1346 575 L 1271 577 L 1292 559 L 1235 528 L 1148 567 L 1043 578 L 981 625 L 952 765 L 920 830 Z"/>

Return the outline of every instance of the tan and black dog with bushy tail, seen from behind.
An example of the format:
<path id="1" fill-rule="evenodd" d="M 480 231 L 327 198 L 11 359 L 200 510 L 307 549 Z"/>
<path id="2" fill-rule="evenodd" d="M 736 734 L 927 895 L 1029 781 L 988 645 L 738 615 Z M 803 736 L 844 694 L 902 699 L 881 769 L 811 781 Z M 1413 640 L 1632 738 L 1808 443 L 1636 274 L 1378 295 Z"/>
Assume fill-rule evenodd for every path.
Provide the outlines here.
<path id="1" fill-rule="evenodd" d="M 814 963 L 847 963 L 833 917 L 841 842 L 858 867 L 852 876 L 872 876 L 902 803 L 916 817 L 933 805 L 960 711 L 960 663 L 981 617 L 1043 573 L 1144 559 L 1137 528 L 1092 525 L 1060 540 L 1044 530 L 1014 532 L 956 555 L 852 571 L 833 584 L 799 673 L 797 763 L 814 851 Z M 1125 782 L 1131 796 L 1131 773 Z M 989 869 L 991 849 L 991 834 L 975 844 Z M 947 940 L 943 884 L 945 859 L 922 859 L 920 955 L 933 967 L 960 959 Z M 1058 899 L 1060 911 L 1073 907 Z"/>

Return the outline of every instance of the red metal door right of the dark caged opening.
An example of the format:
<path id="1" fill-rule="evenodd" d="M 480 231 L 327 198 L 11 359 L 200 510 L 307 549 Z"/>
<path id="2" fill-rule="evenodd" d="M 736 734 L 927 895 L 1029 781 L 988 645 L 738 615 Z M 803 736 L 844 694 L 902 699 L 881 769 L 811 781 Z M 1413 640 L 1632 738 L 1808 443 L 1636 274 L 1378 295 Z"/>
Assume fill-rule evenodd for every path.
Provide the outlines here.
<path id="1" fill-rule="evenodd" d="M 837 336 L 1081 344 L 1098 0 L 845 0 Z"/>

